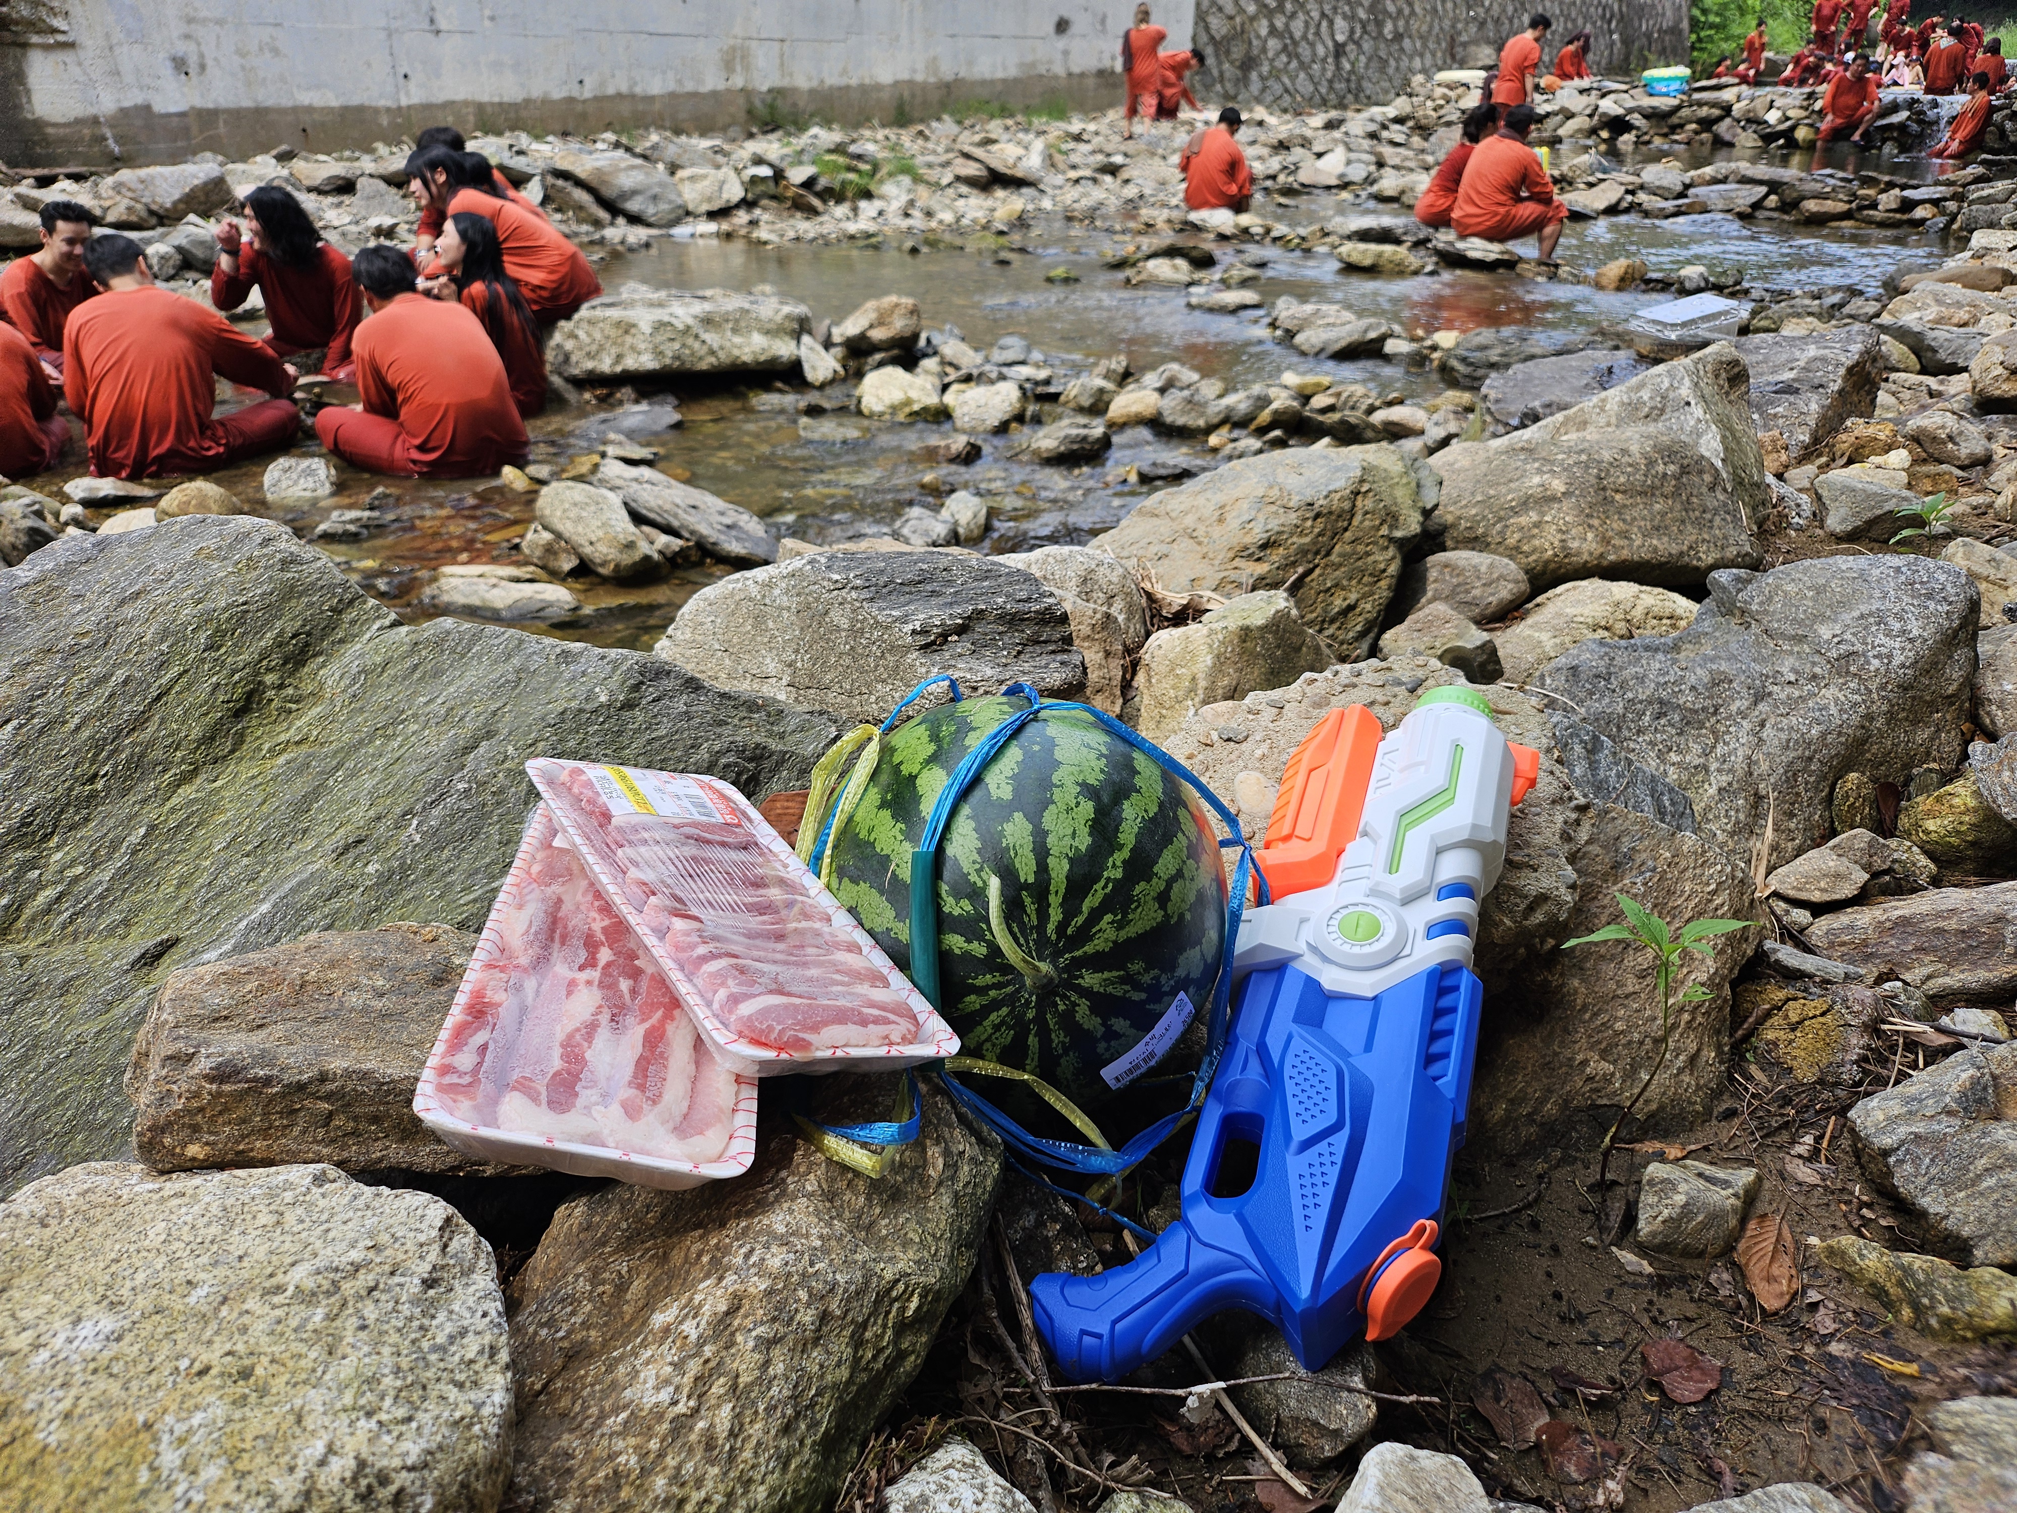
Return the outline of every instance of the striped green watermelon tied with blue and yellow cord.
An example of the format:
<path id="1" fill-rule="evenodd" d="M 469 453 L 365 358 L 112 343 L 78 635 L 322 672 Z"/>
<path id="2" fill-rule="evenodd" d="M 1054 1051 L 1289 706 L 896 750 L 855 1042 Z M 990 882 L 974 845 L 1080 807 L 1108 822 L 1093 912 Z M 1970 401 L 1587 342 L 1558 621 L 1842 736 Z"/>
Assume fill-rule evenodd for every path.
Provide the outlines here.
<path id="1" fill-rule="evenodd" d="M 910 861 L 932 801 L 1023 708 L 968 698 L 898 726 L 835 827 L 833 892 L 904 970 Z M 1079 710 L 1029 720 L 940 841 L 940 1013 L 964 1055 L 1031 1071 L 1087 1112 L 1168 1053 L 1180 995 L 1202 1023 L 1224 930 L 1226 876 L 1196 797 Z"/>

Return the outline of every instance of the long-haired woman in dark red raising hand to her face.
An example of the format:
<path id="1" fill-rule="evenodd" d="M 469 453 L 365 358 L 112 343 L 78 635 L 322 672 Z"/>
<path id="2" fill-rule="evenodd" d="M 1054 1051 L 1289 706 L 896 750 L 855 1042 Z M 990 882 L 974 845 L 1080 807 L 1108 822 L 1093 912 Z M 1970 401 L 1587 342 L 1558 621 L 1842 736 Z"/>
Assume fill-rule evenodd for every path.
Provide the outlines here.
<path id="1" fill-rule="evenodd" d="M 292 357 L 323 353 L 323 371 L 349 383 L 351 333 L 363 319 L 351 260 L 325 242 L 309 212 L 286 190 L 260 186 L 246 196 L 246 226 L 218 226 L 218 260 L 210 268 L 210 303 L 236 311 L 258 286 L 272 335 L 266 351 Z"/>

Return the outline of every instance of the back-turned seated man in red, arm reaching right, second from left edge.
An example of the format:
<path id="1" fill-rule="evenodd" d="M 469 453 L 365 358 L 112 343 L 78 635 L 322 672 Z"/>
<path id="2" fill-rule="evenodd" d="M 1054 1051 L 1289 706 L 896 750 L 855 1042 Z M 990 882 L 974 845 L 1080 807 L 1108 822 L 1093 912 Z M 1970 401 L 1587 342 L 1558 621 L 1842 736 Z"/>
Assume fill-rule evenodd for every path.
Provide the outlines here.
<path id="1" fill-rule="evenodd" d="M 212 472 L 294 440 L 294 375 L 264 343 L 155 286 L 131 236 L 91 238 L 85 268 L 105 293 L 63 329 L 63 393 L 85 422 L 93 474 Z M 216 418 L 220 377 L 274 397 Z"/>

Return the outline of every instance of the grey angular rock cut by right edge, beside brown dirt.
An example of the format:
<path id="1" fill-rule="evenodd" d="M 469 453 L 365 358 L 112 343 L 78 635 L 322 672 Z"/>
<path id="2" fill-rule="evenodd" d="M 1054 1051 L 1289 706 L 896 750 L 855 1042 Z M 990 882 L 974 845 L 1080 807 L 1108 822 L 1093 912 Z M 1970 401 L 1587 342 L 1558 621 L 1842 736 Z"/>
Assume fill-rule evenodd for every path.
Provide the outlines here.
<path id="1" fill-rule="evenodd" d="M 1856 1150 L 1965 1267 L 2017 1265 L 2017 1041 L 1971 1045 L 1850 1110 Z"/>

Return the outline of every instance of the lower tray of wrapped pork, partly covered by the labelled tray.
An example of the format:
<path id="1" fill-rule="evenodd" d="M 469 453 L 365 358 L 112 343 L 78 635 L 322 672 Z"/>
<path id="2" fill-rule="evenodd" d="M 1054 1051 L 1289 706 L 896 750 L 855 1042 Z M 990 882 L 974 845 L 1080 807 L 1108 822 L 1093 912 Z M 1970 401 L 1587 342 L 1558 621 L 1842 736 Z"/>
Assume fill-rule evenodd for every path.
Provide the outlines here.
<path id="1" fill-rule="evenodd" d="M 462 1150 L 684 1186 L 748 1168 L 756 1085 L 541 805 L 413 1108 Z"/>

